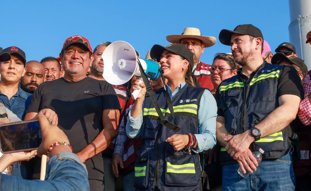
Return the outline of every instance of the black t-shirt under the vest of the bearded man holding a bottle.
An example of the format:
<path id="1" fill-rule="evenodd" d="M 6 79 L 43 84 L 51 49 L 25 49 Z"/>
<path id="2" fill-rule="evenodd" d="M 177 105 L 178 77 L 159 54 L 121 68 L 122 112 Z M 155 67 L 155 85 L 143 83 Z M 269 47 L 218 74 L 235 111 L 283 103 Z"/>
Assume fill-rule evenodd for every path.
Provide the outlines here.
<path id="1" fill-rule="evenodd" d="M 261 67 L 258 69 L 261 69 Z M 244 84 L 246 84 L 251 81 L 251 79 L 254 77 L 258 69 L 255 70 L 253 73 L 251 73 L 250 78 L 245 76 L 242 73 L 241 69 L 239 69 L 237 75 L 239 75 L 240 78 L 243 80 Z M 221 84 L 219 85 L 219 87 L 220 86 Z M 215 93 L 215 100 L 216 100 L 218 108 L 220 105 L 219 87 L 217 88 L 217 91 Z M 282 66 L 281 71 L 280 71 L 280 77 L 278 78 L 278 85 L 277 85 L 276 92 L 277 92 L 277 97 L 280 97 L 281 95 L 289 94 L 289 95 L 297 95 L 301 99 L 304 99 L 304 87 L 297 73 L 297 70 L 294 67 L 285 66 L 285 65 Z M 222 116 L 222 117 L 225 116 L 222 109 L 218 109 L 217 115 Z"/>

